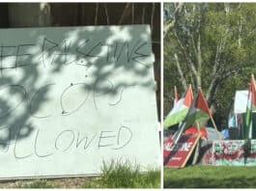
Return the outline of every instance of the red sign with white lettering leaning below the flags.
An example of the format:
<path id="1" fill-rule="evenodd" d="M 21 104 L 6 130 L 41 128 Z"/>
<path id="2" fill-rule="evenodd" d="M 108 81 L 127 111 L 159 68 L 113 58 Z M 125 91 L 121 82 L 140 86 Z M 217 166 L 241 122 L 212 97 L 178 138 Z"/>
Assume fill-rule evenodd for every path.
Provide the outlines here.
<path id="1" fill-rule="evenodd" d="M 184 134 L 176 145 L 171 140 L 165 140 L 163 158 L 166 167 L 183 168 L 194 150 L 200 136 L 198 134 Z"/>

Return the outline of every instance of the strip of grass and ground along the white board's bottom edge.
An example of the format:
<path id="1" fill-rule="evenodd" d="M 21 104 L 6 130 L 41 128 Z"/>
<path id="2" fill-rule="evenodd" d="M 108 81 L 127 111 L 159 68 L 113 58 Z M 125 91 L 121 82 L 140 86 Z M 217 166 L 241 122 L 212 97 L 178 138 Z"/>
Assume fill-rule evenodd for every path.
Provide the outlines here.
<path id="1" fill-rule="evenodd" d="M 130 162 L 103 163 L 99 177 L 70 177 L 0 181 L 0 188 L 159 188 L 160 171 L 141 173 Z"/>

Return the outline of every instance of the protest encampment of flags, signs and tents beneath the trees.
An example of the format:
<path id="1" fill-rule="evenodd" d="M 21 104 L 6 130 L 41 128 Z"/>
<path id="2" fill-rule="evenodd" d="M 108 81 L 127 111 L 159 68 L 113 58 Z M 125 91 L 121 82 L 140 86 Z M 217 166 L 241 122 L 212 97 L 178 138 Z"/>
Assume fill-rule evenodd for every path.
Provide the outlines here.
<path id="1" fill-rule="evenodd" d="M 189 157 L 193 157 L 193 164 L 256 165 L 256 85 L 253 75 L 248 91 L 236 92 L 232 111 L 228 126 L 220 133 L 213 121 L 207 101 L 201 89 L 198 89 L 198 94 L 194 97 L 183 121 L 179 123 L 172 139 L 169 139 L 172 143 L 165 141 L 170 153 L 165 157 L 165 163 L 172 164 L 166 160 L 178 160 L 177 155 L 183 153 L 183 150 L 192 149 L 193 152 L 189 151 L 184 153 L 187 155 L 181 155 L 185 162 Z M 169 121 L 171 120 L 169 116 Z M 200 123 L 205 120 L 211 120 L 213 127 L 202 126 Z M 189 142 L 191 137 L 194 137 L 193 142 Z M 195 141 L 196 137 L 199 137 L 198 142 Z M 164 150 L 166 149 L 164 147 Z M 183 164 L 179 168 L 184 166 Z"/>

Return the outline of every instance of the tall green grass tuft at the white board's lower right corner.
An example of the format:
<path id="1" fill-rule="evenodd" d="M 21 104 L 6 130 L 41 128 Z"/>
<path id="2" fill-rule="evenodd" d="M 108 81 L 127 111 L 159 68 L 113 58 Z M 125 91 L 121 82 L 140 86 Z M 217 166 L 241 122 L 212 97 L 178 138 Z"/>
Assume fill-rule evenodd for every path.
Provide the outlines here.
<path id="1" fill-rule="evenodd" d="M 140 167 L 128 161 L 103 162 L 100 178 L 88 182 L 85 188 L 159 188 L 160 172 L 141 173 Z"/>

